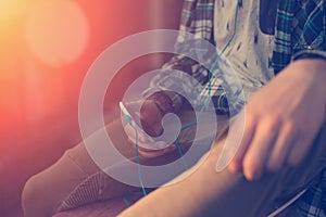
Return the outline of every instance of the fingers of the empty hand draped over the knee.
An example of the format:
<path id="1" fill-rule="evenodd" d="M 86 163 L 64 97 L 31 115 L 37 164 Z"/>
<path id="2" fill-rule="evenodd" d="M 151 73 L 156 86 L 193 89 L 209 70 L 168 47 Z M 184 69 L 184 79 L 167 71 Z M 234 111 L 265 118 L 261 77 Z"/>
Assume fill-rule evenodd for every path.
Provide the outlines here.
<path id="1" fill-rule="evenodd" d="M 248 180 L 256 180 L 265 170 L 298 165 L 309 151 L 313 136 L 298 133 L 297 125 L 277 115 L 260 118 L 248 115 L 230 171 L 241 171 Z"/>

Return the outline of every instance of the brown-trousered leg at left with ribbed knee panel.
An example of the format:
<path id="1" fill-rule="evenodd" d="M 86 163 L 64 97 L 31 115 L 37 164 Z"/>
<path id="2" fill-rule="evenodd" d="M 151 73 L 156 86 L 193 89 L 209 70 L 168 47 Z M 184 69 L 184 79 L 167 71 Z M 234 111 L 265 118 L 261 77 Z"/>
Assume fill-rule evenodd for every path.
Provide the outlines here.
<path id="1" fill-rule="evenodd" d="M 121 119 L 115 119 L 105 128 L 125 161 L 136 161 L 136 151 L 127 142 Z M 60 210 L 139 190 L 108 176 L 90 157 L 85 145 L 82 142 L 67 150 L 55 164 L 26 182 L 22 195 L 26 216 L 50 216 Z M 153 159 L 140 158 L 140 162 L 146 165 L 162 165 L 177 157 L 177 153 L 171 153 Z M 124 168 L 112 166 L 112 169 Z"/>

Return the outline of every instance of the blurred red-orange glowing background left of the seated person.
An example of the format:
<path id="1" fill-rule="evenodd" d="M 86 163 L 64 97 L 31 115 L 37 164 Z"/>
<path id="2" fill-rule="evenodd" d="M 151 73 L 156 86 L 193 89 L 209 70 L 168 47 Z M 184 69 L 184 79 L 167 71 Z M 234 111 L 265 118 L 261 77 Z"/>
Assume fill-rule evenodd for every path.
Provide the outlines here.
<path id="1" fill-rule="evenodd" d="M 110 44 L 142 30 L 177 28 L 183 1 L 0 0 L 0 216 L 20 217 L 34 174 L 80 141 L 79 89 Z M 127 52 L 127 51 L 126 51 Z M 109 87 L 104 111 L 168 54 L 127 64 Z"/>

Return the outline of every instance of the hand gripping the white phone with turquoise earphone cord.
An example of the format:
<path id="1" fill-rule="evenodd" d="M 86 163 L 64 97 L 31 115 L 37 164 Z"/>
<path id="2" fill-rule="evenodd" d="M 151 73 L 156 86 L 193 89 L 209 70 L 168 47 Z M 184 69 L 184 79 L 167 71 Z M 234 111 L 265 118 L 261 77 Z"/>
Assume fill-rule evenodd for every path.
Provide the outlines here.
<path id="1" fill-rule="evenodd" d="M 138 103 L 138 104 L 137 104 Z M 139 107 L 139 102 L 133 102 L 128 104 L 128 107 L 136 111 Z M 156 106 L 156 104 L 151 100 L 146 100 L 140 108 L 140 114 L 138 118 L 140 119 L 142 129 L 151 137 L 160 136 L 163 131 L 161 124 L 163 114 Z M 138 141 L 136 145 L 136 135 L 135 128 L 129 124 L 124 126 L 126 133 L 128 135 L 128 142 L 131 144 L 133 149 L 137 149 L 138 153 L 145 158 L 153 158 L 164 154 L 167 154 L 176 149 L 175 144 L 167 145 L 163 141 L 151 142 L 147 135 L 141 130 L 137 130 Z"/>

